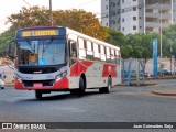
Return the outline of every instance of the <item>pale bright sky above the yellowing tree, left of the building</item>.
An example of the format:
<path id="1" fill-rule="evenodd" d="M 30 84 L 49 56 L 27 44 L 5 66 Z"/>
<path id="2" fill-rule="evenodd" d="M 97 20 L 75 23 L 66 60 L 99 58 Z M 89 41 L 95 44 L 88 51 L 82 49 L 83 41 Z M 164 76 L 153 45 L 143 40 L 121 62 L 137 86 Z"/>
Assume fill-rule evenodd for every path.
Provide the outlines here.
<path id="1" fill-rule="evenodd" d="M 13 13 L 19 13 L 22 7 L 30 6 L 50 7 L 50 0 L 4 0 L 0 3 L 0 33 L 8 30 L 10 24 L 6 24 L 7 16 Z M 87 12 L 95 13 L 100 18 L 101 0 L 52 0 L 53 10 L 72 10 L 84 9 Z"/>

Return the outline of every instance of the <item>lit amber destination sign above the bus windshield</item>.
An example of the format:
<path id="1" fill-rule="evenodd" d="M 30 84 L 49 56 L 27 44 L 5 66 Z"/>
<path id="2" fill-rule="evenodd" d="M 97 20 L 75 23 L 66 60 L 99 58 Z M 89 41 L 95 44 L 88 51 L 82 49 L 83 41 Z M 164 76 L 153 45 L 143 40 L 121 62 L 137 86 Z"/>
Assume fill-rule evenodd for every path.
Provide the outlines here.
<path id="1" fill-rule="evenodd" d="M 22 31 L 21 35 L 22 37 L 58 35 L 58 31 L 57 30 L 29 30 L 29 31 Z"/>

